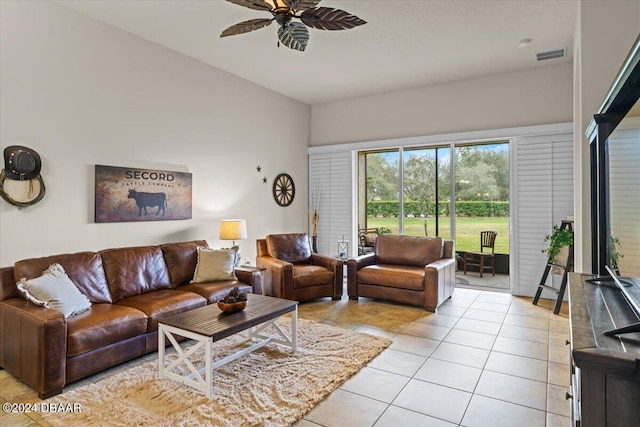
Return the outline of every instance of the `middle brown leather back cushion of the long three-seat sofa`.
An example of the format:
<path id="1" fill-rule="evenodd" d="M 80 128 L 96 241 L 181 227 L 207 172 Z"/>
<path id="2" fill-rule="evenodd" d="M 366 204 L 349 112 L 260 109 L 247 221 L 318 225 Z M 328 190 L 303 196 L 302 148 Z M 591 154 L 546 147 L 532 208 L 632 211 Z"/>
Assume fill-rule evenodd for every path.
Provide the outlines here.
<path id="1" fill-rule="evenodd" d="M 159 246 L 107 249 L 100 254 L 113 302 L 171 287 Z"/>

